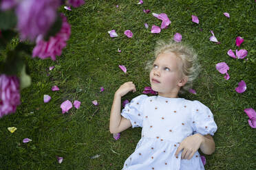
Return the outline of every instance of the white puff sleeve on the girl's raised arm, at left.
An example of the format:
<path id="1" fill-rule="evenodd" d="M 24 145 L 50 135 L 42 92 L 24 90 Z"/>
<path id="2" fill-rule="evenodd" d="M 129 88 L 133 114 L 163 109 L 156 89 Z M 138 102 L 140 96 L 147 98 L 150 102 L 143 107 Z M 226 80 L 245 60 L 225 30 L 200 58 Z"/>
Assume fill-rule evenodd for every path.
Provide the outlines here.
<path id="1" fill-rule="evenodd" d="M 139 95 L 131 100 L 129 104 L 125 105 L 125 108 L 122 109 L 121 115 L 126 119 L 131 121 L 132 127 L 142 127 L 143 123 L 143 107 L 147 95 Z"/>

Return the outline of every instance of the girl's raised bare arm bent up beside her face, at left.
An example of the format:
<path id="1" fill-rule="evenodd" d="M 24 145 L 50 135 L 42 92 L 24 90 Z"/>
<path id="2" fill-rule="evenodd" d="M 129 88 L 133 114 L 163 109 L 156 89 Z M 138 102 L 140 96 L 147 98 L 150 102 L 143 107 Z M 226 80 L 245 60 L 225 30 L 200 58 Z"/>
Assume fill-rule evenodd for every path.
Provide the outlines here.
<path id="1" fill-rule="evenodd" d="M 114 95 L 114 100 L 110 113 L 109 131 L 111 134 L 117 134 L 127 128 L 131 127 L 131 122 L 121 116 L 121 97 L 129 93 L 129 91 L 136 91 L 136 87 L 133 82 L 126 82 L 122 84 Z"/>

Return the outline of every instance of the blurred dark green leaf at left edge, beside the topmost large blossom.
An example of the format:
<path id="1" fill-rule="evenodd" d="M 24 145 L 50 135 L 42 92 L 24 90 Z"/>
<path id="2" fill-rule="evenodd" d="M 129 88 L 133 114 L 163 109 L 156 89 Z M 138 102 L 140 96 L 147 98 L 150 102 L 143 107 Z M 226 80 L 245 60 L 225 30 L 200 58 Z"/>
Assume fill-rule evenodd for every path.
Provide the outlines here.
<path id="1" fill-rule="evenodd" d="M 6 30 L 15 27 L 17 24 L 17 17 L 12 10 L 0 11 L 0 29 Z"/>

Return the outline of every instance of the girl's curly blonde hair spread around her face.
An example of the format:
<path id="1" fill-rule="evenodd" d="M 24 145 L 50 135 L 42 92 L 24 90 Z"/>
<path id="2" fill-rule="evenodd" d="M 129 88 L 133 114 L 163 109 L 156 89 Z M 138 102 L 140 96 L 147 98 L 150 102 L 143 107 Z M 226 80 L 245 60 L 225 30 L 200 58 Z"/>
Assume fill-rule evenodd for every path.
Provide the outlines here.
<path id="1" fill-rule="evenodd" d="M 161 53 L 175 53 L 175 56 L 180 58 L 182 61 L 181 64 L 181 73 L 182 77 L 187 77 L 188 81 L 184 86 L 180 88 L 179 94 L 186 93 L 190 88 L 192 88 L 193 80 L 198 77 L 200 73 L 200 64 L 198 63 L 198 54 L 195 53 L 192 47 L 184 45 L 181 42 L 164 42 L 160 40 L 157 42 L 155 48 L 155 56 L 147 62 L 146 69 L 151 70 L 154 60 Z"/>

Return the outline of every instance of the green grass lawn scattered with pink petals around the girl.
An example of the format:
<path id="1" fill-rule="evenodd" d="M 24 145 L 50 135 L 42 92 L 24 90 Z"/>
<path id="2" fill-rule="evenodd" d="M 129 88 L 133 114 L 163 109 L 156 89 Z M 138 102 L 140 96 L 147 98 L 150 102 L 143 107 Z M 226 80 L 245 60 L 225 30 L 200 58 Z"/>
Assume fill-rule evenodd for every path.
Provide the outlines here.
<path id="1" fill-rule="evenodd" d="M 123 99 L 140 95 L 149 86 L 144 67 L 153 56 L 156 41 L 171 39 L 176 32 L 198 51 L 202 64 L 200 77 L 193 86 L 198 94 L 184 97 L 208 106 L 218 126 L 215 153 L 206 156 L 205 168 L 256 169 L 256 133 L 244 112 L 245 108 L 256 109 L 255 1 L 137 3 L 87 0 L 72 12 L 61 9 L 72 25 L 72 36 L 56 62 L 25 56 L 32 85 L 21 91 L 17 112 L 0 119 L 0 169 L 122 169 L 140 139 L 141 129 L 122 132 L 118 141 L 112 138 L 109 114 L 114 93 L 124 82 L 133 81 L 137 92 Z M 160 34 L 151 34 L 151 25 L 160 26 L 161 21 L 143 9 L 166 13 L 171 25 Z M 231 18 L 227 19 L 223 12 L 231 14 Z M 191 14 L 198 16 L 199 25 L 191 22 Z M 144 23 L 149 24 L 149 29 L 145 29 Z M 117 38 L 109 37 L 107 32 L 111 29 L 116 29 Z M 126 29 L 131 29 L 133 38 L 123 34 Z M 220 45 L 209 41 L 210 30 Z M 244 38 L 241 49 L 248 51 L 247 61 L 226 54 L 228 49 L 237 49 L 237 36 Z M 215 69 L 218 62 L 228 64 L 230 80 L 224 80 L 224 75 Z M 118 68 L 119 64 L 127 67 L 127 75 Z M 53 65 L 55 69 L 49 71 Z M 247 84 L 242 94 L 235 92 L 240 80 Z M 61 90 L 52 92 L 54 85 Z M 102 93 L 100 86 L 105 88 Z M 45 94 L 52 97 L 47 104 L 43 103 Z M 62 114 L 60 106 L 66 99 L 78 99 L 81 108 Z M 98 100 L 98 107 L 92 104 L 94 99 Z M 12 126 L 18 129 L 13 134 L 7 130 Z M 32 142 L 22 143 L 23 138 L 31 138 Z M 96 154 L 100 157 L 91 159 Z M 64 158 L 61 165 L 56 156 Z"/>

